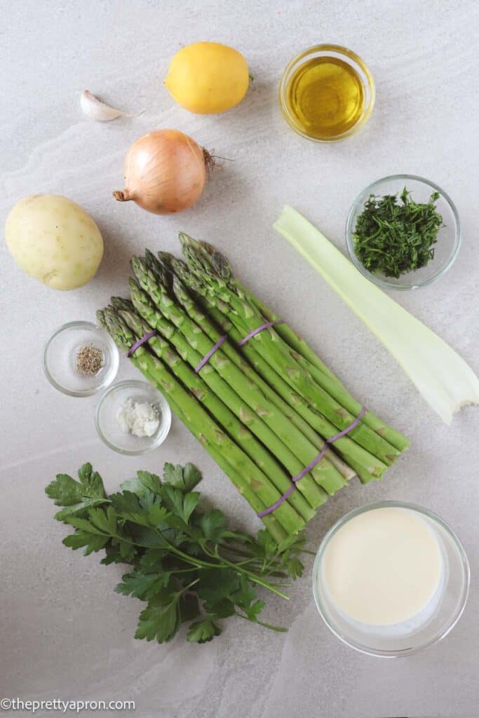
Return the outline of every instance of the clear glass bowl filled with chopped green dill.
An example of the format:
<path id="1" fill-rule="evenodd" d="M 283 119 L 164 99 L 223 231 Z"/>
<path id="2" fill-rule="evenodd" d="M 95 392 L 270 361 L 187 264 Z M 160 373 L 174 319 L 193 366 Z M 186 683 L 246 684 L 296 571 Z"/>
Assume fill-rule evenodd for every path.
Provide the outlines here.
<path id="1" fill-rule="evenodd" d="M 383 289 L 419 289 L 450 269 L 461 242 L 447 193 L 424 177 L 394 174 L 373 182 L 346 221 L 353 264 Z"/>

